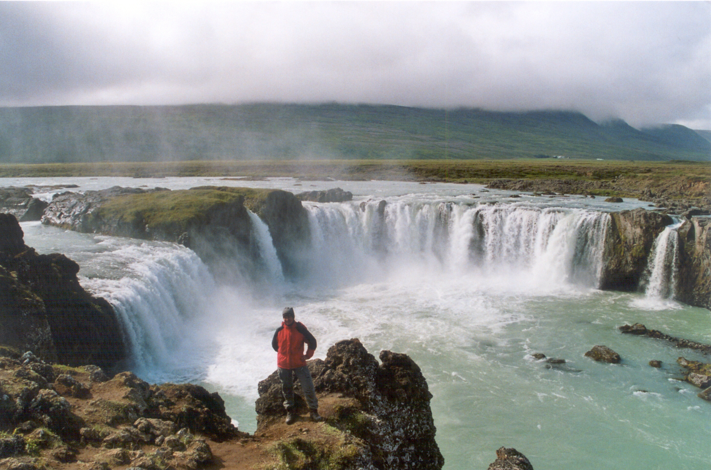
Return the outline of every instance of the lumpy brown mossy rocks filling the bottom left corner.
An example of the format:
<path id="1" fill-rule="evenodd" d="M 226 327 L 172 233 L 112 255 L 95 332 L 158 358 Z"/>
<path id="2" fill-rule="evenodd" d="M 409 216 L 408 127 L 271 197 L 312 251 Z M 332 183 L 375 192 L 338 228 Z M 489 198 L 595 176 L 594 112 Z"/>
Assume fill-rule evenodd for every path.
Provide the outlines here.
<path id="1" fill-rule="evenodd" d="M 0 357 L 0 469 L 201 469 L 210 442 L 247 437 L 217 393 L 130 372 Z M 5 438 L 5 436 L 11 436 Z"/>

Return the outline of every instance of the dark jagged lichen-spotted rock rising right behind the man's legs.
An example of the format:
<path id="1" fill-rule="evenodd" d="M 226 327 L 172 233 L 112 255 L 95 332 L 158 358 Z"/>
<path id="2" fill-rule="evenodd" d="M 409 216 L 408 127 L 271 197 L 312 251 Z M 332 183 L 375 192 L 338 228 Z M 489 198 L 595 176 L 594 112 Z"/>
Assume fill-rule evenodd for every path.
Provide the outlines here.
<path id="1" fill-rule="evenodd" d="M 382 351 L 378 360 L 358 339 L 339 341 L 326 360 L 309 361 L 319 400 L 336 397 L 326 423 L 346 433 L 354 452 L 341 468 L 440 469 L 444 458 L 434 440 L 432 395 L 419 367 L 405 354 Z M 259 385 L 257 435 L 279 426 L 286 412 L 274 372 Z M 296 387 L 296 406 L 306 403 Z"/>

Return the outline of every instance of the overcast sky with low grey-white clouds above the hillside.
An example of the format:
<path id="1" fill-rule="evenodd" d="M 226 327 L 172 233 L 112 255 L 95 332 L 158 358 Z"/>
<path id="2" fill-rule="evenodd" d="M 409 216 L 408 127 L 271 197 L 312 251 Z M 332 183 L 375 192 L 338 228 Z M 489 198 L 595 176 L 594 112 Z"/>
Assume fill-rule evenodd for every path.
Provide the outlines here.
<path id="1" fill-rule="evenodd" d="M 711 129 L 711 3 L 0 1 L 0 106 L 262 101 Z"/>

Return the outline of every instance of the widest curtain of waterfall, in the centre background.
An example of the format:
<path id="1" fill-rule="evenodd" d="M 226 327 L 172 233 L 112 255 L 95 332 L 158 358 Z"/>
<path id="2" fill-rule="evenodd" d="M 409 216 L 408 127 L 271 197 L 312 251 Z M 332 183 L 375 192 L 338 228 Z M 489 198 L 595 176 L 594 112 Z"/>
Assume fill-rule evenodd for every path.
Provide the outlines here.
<path id="1" fill-rule="evenodd" d="M 321 282 L 373 280 L 420 270 L 456 275 L 528 272 L 547 282 L 597 287 L 606 213 L 506 204 L 395 201 L 308 204 Z"/>

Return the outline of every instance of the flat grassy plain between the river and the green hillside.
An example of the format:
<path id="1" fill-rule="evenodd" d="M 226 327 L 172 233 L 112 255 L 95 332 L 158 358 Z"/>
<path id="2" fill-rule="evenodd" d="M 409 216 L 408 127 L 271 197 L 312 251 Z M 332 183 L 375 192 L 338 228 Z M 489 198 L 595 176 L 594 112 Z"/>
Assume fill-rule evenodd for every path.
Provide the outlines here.
<path id="1" fill-rule="evenodd" d="M 311 161 L 185 161 L 121 164 L 0 164 L 0 177 L 61 176 L 223 176 L 303 180 L 447 181 L 484 183 L 493 178 L 558 178 L 595 180 L 616 176 L 664 179 L 669 176 L 711 178 L 711 165 L 690 161 L 596 160 L 311 160 Z M 176 191 L 173 191 L 176 192 Z M 247 193 L 245 193 L 247 198 Z"/>

